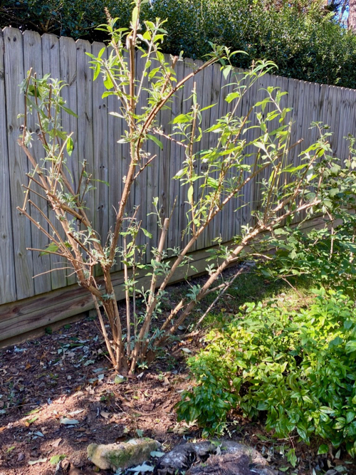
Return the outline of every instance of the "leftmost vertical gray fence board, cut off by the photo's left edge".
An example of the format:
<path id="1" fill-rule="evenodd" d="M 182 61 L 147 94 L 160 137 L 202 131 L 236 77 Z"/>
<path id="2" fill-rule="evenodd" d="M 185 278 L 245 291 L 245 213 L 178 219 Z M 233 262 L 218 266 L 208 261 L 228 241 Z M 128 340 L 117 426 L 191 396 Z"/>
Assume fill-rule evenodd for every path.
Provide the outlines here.
<path id="1" fill-rule="evenodd" d="M 14 244 L 11 222 L 11 212 L 14 202 L 11 202 L 9 181 L 9 153 L 6 137 L 6 90 L 4 38 L 0 30 L 0 303 L 16 301 L 16 281 L 14 263 Z"/>

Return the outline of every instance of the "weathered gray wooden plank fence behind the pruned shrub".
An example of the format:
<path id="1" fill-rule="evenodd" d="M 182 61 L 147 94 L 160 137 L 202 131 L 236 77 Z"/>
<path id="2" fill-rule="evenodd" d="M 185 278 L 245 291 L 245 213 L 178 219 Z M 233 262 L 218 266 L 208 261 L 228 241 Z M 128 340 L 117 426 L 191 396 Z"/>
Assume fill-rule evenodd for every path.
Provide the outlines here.
<path id="1" fill-rule="evenodd" d="M 108 115 L 109 111 L 118 111 L 118 102 L 113 96 L 102 98 L 102 81 L 99 79 L 93 82 L 93 71 L 85 54 L 98 54 L 102 47 L 102 43 L 92 44 L 48 34 L 40 36 L 33 31 L 21 33 L 16 28 L 4 28 L 0 31 L 0 340 L 36 328 L 36 325 L 43 325 L 43 319 L 41 320 L 39 315 L 48 306 L 51 308 L 51 314 L 56 314 L 53 318 L 57 320 L 74 315 L 83 308 L 90 308 L 88 302 L 85 306 L 80 306 L 80 303 L 75 306 L 72 301 L 68 310 L 70 293 L 65 296 L 66 291 L 63 289 L 68 286 L 74 289 L 73 273 L 70 269 L 48 273 L 51 269 L 61 266 L 61 262 L 58 262 L 56 257 L 38 256 L 37 253 L 27 250 L 28 247 L 43 249 L 48 242 L 30 221 L 16 211 L 16 206 L 23 203 L 21 185 L 26 183 L 26 173 L 29 171 L 26 157 L 16 140 L 21 133 L 22 123 L 18 115 L 23 112 L 19 84 L 26 76 L 26 71 L 33 68 L 38 77 L 51 73 L 52 77 L 64 80 L 68 86 L 63 88 L 63 97 L 68 107 L 78 114 L 78 119 L 63 115 L 64 129 L 74 132 L 74 150 L 68 167 L 74 181 L 78 181 L 80 163 L 86 160 L 88 170 L 95 179 L 110 182 L 110 187 L 98 183 L 87 204 L 95 228 L 102 236 L 106 236 L 114 221 L 115 207 L 120 199 L 128 150 L 127 145 L 117 144 L 125 125 L 119 119 Z M 137 61 L 137 68 L 142 68 L 140 61 Z M 188 71 L 192 71 L 192 61 L 178 63 L 177 79 L 183 78 Z M 231 86 L 223 88 L 225 84 L 229 84 L 229 78 L 224 80 L 218 65 L 204 70 L 194 80 L 197 82 L 198 102 L 201 106 L 216 103 L 216 107 L 204 115 L 204 129 L 220 115 L 228 112 L 230 105 L 224 98 L 231 91 Z M 249 90 L 239 111 L 241 115 L 249 110 L 251 104 L 263 98 L 263 88 L 268 85 L 278 86 L 288 92 L 283 98 L 283 105 L 293 108 L 295 126 L 291 143 L 300 137 L 304 138 L 303 144 L 293 150 L 292 160 L 295 163 L 298 163 L 300 150 L 316 139 L 316 130 L 310 130 L 310 122 L 317 120 L 330 125 L 333 131 L 331 145 L 335 155 L 340 158 L 347 157 L 347 142 L 342 140 L 342 137 L 349 132 L 356 134 L 356 90 L 265 75 Z M 172 108 L 160 114 L 160 122 L 167 132 L 171 127 L 170 120 L 175 115 L 189 110 L 191 101 L 188 98 L 192 86 L 191 80 L 184 92 L 179 90 L 172 102 Z M 143 103 L 140 103 L 139 106 L 142 105 Z M 34 118 L 29 125 L 36 130 Z M 253 133 L 252 130 L 248 132 L 247 140 L 253 137 Z M 214 145 L 214 140 L 214 134 L 206 136 L 201 147 Z M 184 157 L 180 149 L 181 147 L 174 143 L 164 142 L 164 148 L 159 150 L 157 160 L 140 175 L 130 197 L 131 208 L 140 204 L 142 226 L 152 232 L 154 243 L 157 239 L 157 218 L 150 214 L 154 211 L 152 199 L 159 198 L 159 214 L 163 219 L 171 212 L 177 197 L 167 239 L 167 247 L 171 248 L 182 246 L 180 231 L 184 229 L 186 219 L 187 190 L 180 187 L 177 180 L 169 178 L 182 167 Z M 148 151 L 153 152 L 151 145 Z M 37 155 L 41 153 L 41 147 L 36 141 L 33 144 L 33 152 Z M 198 163 L 197 166 L 204 165 Z M 36 204 L 40 203 L 38 199 L 36 195 L 33 196 Z M 258 187 L 253 184 L 246 187 L 244 197 L 240 197 L 238 203 L 246 206 L 234 213 L 236 202 L 231 202 L 219 221 L 199 239 L 194 251 L 201 256 L 200 251 L 211 246 L 214 236 L 220 234 L 224 241 L 228 241 L 238 233 L 241 225 L 250 220 L 251 207 L 258 204 L 258 199 Z M 41 205 L 43 206 L 43 202 Z M 31 214 L 36 216 L 33 211 Z M 36 219 L 39 219 L 38 216 Z M 120 267 L 117 266 L 114 271 L 120 272 Z M 33 278 L 38 274 L 40 276 Z M 76 292 L 82 295 L 80 290 L 77 289 Z M 61 306 L 61 311 L 58 306 Z M 68 311 L 63 306 L 67 306 Z M 29 317 L 25 316 L 30 313 L 32 327 L 26 320 Z M 46 322 L 52 321 L 51 318 Z"/>

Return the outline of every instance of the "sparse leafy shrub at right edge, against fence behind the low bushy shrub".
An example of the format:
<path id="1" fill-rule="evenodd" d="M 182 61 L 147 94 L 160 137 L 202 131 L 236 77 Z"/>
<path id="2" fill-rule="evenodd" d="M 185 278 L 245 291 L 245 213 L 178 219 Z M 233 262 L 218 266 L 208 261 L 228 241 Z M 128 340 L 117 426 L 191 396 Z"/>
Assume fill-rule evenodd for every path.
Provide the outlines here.
<path id="1" fill-rule="evenodd" d="M 333 157 L 325 157 L 331 165 L 328 170 L 323 169 L 329 179 L 321 185 L 325 193 L 322 207 L 325 225 L 308 232 L 303 229 L 304 223 L 294 229 L 286 226 L 273 231 L 264 244 L 276 249 L 276 253 L 273 259 L 258 265 L 264 276 L 292 280 L 295 276 L 306 276 L 314 283 L 355 297 L 356 215 L 350 211 L 356 207 L 355 137 L 350 135 L 348 140 L 350 156 L 342 167 L 333 162 Z M 325 167 L 323 161 L 317 166 Z"/>

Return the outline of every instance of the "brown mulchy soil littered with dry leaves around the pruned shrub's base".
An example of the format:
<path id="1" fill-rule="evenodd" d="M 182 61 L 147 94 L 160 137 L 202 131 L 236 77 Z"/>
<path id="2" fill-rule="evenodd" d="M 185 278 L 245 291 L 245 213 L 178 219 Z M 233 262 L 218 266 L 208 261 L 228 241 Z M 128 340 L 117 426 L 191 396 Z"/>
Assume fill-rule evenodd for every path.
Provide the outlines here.
<path id="1" fill-rule="evenodd" d="M 184 291 L 183 284 L 175 291 Z M 86 456 L 92 442 L 144 436 L 157 439 L 168 451 L 187 439 L 199 440 L 198 427 L 177 423 L 174 406 L 192 384 L 187 353 L 196 353 L 202 344 L 198 337 L 182 337 L 165 348 L 150 369 L 120 384 L 103 354 L 96 321 L 90 318 L 1 350 L 0 475 L 53 475 L 56 463 L 51 458 L 56 455 L 66 456 L 71 475 L 93 474 L 98 469 Z M 335 449 L 318 455 L 320 441 L 307 446 L 298 437 L 273 438 L 262 422 L 250 422 L 239 413 L 231 414 L 225 438 L 258 449 L 281 474 L 314 475 L 314 470 L 318 475 L 340 466 L 356 474 L 345 451 L 338 458 Z M 286 459 L 290 447 L 298 456 L 296 469 Z"/>

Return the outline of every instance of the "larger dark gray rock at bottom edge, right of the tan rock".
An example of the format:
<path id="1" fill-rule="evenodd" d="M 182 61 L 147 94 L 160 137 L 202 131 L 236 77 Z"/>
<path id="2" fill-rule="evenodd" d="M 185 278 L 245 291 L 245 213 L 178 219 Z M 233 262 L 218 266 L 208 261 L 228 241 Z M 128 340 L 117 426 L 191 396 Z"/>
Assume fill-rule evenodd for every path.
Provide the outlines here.
<path id="1" fill-rule="evenodd" d="M 178 445 L 159 460 L 155 469 L 157 475 L 174 475 L 182 471 L 187 471 L 187 475 L 277 473 L 268 467 L 258 451 L 230 440 Z"/>

